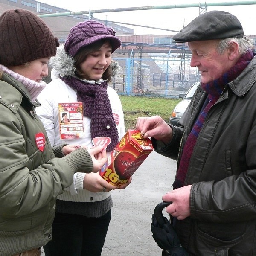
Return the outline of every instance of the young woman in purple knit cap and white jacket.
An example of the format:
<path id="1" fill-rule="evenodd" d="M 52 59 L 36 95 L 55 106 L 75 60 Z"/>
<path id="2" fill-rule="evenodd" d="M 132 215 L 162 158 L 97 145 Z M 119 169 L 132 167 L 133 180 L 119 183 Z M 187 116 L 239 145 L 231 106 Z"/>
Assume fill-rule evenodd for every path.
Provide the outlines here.
<path id="1" fill-rule="evenodd" d="M 119 96 L 108 86 L 119 68 L 111 61 L 111 53 L 120 44 L 113 29 L 94 20 L 78 23 L 70 30 L 64 46 L 50 61 L 58 78 L 39 96 L 42 106 L 38 114 L 53 146 L 78 143 L 90 148 L 93 138 L 103 136 L 111 138 L 107 147 L 110 154 L 125 134 Z M 78 138 L 62 133 L 65 125 L 60 123 L 59 106 L 69 102 L 81 102 L 83 108 L 83 134 Z M 57 199 L 54 235 L 44 247 L 46 256 L 100 256 L 111 219 L 110 191 L 116 188 L 99 174 L 74 175 L 69 191 Z"/>

